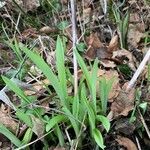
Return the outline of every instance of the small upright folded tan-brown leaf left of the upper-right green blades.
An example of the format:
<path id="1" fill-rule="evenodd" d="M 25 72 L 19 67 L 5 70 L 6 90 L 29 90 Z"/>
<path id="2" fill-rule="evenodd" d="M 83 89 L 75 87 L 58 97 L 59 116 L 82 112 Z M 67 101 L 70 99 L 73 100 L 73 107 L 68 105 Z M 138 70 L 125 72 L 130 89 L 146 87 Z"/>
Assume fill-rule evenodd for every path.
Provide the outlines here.
<path id="1" fill-rule="evenodd" d="M 118 49 L 118 35 L 115 35 L 112 37 L 109 46 L 108 46 L 108 51 L 113 52 Z"/>

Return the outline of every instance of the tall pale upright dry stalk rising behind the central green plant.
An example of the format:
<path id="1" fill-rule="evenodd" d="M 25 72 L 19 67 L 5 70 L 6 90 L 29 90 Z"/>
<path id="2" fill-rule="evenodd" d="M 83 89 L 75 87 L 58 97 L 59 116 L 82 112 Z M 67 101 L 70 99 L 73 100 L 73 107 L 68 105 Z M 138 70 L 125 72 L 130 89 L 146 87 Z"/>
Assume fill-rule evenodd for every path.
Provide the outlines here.
<path id="1" fill-rule="evenodd" d="M 76 29 L 76 0 L 70 0 L 71 4 L 71 22 L 72 22 L 72 42 L 73 42 L 73 68 L 74 68 L 74 95 L 78 92 L 78 66 L 77 66 L 77 59 L 74 52 L 77 43 L 77 29 Z"/>

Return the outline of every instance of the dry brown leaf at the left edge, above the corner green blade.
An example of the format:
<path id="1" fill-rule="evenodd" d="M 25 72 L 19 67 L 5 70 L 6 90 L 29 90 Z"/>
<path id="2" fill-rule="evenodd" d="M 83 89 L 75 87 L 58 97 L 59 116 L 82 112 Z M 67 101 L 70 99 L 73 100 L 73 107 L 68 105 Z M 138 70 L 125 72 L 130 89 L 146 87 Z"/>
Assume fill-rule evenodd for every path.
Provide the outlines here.
<path id="1" fill-rule="evenodd" d="M 3 104 L 1 104 L 0 108 L 0 123 L 10 129 L 10 131 L 12 131 L 13 133 L 16 133 L 18 123 L 14 121 L 14 119 L 8 114 Z"/>

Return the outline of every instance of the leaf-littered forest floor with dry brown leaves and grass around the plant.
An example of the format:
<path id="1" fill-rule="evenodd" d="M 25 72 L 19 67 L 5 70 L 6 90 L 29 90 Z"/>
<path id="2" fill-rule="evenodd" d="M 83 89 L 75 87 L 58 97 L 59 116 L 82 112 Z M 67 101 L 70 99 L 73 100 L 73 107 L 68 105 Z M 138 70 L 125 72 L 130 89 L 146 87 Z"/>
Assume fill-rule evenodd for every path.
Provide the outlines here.
<path id="1" fill-rule="evenodd" d="M 114 79 L 111 90 L 107 86 L 99 90 L 97 84 L 94 85 L 98 89 L 97 99 L 102 99 L 102 89 L 104 93 L 109 90 L 106 95 L 108 100 L 106 110 L 102 113 L 110 121 L 109 131 L 103 131 L 102 125 L 96 123 L 97 128 L 102 132 L 105 149 L 150 150 L 150 63 L 143 67 L 134 85 L 125 92 L 150 48 L 150 2 L 148 0 L 78 0 L 76 8 L 76 46 L 89 69 L 89 74 L 90 67 L 97 59 L 97 77 L 99 79 L 105 77 L 106 83 Z M 24 139 L 24 144 L 29 143 L 27 149 L 46 149 L 46 146 L 49 150 L 77 149 L 71 146 L 71 141 L 75 137 L 73 129 L 70 129 L 71 124 L 60 124 L 64 139 L 61 138 L 65 144 L 60 142 L 60 138 L 55 138 L 56 133 L 46 137 L 46 133 L 41 132 L 44 130 L 42 127 L 44 123 L 36 119 L 36 115 L 31 112 L 34 105 L 26 108 L 28 114 L 32 114 L 31 120 L 34 122 L 33 133 L 30 136 L 28 120 L 27 122 L 25 119 L 21 120 L 22 116 L 17 115 L 16 109 L 13 109 L 13 105 L 17 106 L 17 109 L 21 107 L 26 114 L 18 98 L 21 95 L 18 96 L 17 90 L 13 90 L 13 86 L 11 88 L 11 85 L 10 87 L 8 85 L 11 82 L 7 82 L 4 78 L 4 76 L 13 78 L 13 82 L 24 91 L 26 96 L 32 99 L 36 96 L 38 103 L 36 102 L 35 106 L 44 108 L 41 116 L 45 120 L 47 116 L 51 117 L 55 114 L 53 109 L 60 111 L 55 87 L 53 89 L 51 81 L 43 76 L 44 69 L 39 69 L 20 50 L 20 45 L 34 49 L 52 71 L 59 74 L 56 69 L 55 49 L 57 37 L 61 37 L 63 44 L 65 41 L 66 72 L 69 72 L 68 76 L 73 78 L 71 15 L 68 0 L 0 1 L 0 74 L 2 75 L 0 77 L 0 149 L 8 150 L 17 147 L 16 143 L 10 142 L 13 138 L 8 137 L 11 135 L 6 135 L 6 131 L 2 132 L 4 128 L 1 124 L 7 127 L 17 139 Z M 83 80 L 79 82 L 82 83 L 84 71 L 79 66 L 78 80 Z M 66 79 L 67 93 L 73 97 L 74 88 L 69 77 Z M 79 84 L 79 88 L 81 86 L 82 84 Z M 90 99 L 90 95 L 87 97 Z M 73 105 L 72 103 L 70 105 Z M 60 128 L 57 128 L 57 134 Z M 98 148 L 91 140 L 88 128 L 90 125 L 86 126 L 85 131 L 83 130 L 82 146 L 78 149 L 96 150 Z M 46 140 L 42 140 L 43 135 Z M 50 142 L 48 138 L 51 139 Z"/>

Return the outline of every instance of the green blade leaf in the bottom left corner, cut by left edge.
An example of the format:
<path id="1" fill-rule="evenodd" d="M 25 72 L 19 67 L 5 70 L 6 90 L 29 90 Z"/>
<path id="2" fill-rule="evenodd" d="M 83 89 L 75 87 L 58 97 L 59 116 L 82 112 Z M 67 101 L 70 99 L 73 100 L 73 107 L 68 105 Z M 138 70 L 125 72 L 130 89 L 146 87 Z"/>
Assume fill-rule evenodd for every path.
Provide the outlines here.
<path id="1" fill-rule="evenodd" d="M 0 133 L 6 136 L 17 147 L 21 146 L 21 141 L 1 123 L 0 123 Z"/>

